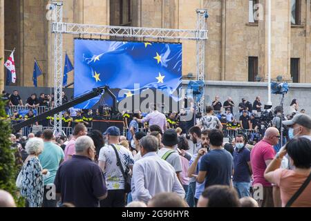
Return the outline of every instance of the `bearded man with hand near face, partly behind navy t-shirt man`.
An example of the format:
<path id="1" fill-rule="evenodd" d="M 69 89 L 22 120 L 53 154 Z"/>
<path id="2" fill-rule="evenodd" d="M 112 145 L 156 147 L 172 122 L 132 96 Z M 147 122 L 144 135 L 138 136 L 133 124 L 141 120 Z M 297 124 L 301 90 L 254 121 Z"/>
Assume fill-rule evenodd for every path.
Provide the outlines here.
<path id="1" fill-rule="evenodd" d="M 202 192 L 205 189 L 205 182 L 203 182 L 202 184 L 199 184 L 198 182 L 196 182 L 196 177 L 198 176 L 198 171 L 200 168 L 200 159 L 203 155 L 205 155 L 208 151 L 209 151 L 209 137 L 208 137 L 208 130 L 204 130 L 201 133 L 201 148 L 198 151 L 198 153 L 196 153 L 195 155 L 193 155 L 191 157 L 191 160 L 189 161 L 189 169 L 188 169 L 188 177 L 190 177 L 190 181 L 189 181 L 189 186 L 192 185 L 191 188 L 194 187 L 194 191 L 192 190 L 192 193 L 194 193 L 194 195 L 188 195 L 187 194 L 187 203 L 189 204 L 189 202 L 191 202 L 191 200 L 194 200 L 194 204 L 189 206 L 196 206 L 196 204 L 198 203 L 198 198 L 200 198 L 200 195 L 202 194 Z M 188 193 L 191 192 L 190 189 L 188 189 Z M 189 201 L 189 202 L 188 202 Z"/>

